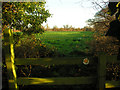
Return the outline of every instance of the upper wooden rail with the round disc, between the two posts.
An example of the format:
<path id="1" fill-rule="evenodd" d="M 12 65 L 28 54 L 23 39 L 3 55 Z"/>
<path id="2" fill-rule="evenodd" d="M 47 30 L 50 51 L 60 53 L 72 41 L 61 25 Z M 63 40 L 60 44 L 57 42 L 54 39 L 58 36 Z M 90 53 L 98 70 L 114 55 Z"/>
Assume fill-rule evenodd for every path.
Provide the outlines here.
<path id="1" fill-rule="evenodd" d="M 66 58 L 16 58 L 16 65 L 71 65 L 83 64 L 83 57 L 66 57 Z M 93 64 L 94 60 L 90 60 Z"/>

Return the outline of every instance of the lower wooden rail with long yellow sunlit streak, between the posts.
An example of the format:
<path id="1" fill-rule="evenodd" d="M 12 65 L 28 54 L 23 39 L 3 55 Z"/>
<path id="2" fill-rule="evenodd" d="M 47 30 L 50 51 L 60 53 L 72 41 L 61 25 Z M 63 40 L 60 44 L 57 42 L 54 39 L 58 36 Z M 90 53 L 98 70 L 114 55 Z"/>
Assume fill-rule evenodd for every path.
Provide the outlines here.
<path id="1" fill-rule="evenodd" d="M 80 85 L 95 83 L 95 77 L 18 78 L 18 85 Z"/>

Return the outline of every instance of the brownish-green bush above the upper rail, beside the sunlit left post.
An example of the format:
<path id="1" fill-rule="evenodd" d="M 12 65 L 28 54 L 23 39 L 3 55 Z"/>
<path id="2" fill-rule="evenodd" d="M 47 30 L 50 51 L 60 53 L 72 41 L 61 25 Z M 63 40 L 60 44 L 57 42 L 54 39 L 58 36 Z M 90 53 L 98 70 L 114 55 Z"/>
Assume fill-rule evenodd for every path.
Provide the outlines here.
<path id="1" fill-rule="evenodd" d="M 15 45 L 16 58 L 40 58 L 53 57 L 56 54 L 56 48 L 50 45 L 45 45 L 40 39 L 24 37 L 19 44 Z"/>

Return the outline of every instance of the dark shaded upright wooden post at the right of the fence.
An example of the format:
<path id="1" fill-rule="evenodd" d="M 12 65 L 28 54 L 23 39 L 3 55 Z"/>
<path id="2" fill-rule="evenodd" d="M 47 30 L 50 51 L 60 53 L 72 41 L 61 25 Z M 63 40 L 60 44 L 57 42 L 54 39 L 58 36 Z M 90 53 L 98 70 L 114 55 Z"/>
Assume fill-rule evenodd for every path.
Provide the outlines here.
<path id="1" fill-rule="evenodd" d="M 98 60 L 98 90 L 105 89 L 106 81 L 106 55 L 104 53 L 99 54 Z"/>

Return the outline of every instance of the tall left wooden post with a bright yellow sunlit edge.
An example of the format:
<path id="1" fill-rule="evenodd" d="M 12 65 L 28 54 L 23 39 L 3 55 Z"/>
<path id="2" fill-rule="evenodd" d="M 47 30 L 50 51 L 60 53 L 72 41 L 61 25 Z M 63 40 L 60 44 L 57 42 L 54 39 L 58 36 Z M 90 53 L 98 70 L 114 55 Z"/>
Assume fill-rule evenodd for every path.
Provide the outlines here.
<path id="1" fill-rule="evenodd" d="M 5 41 L 5 62 L 7 66 L 9 88 L 18 89 L 17 75 L 14 65 L 13 31 L 6 27 L 3 33 Z"/>

